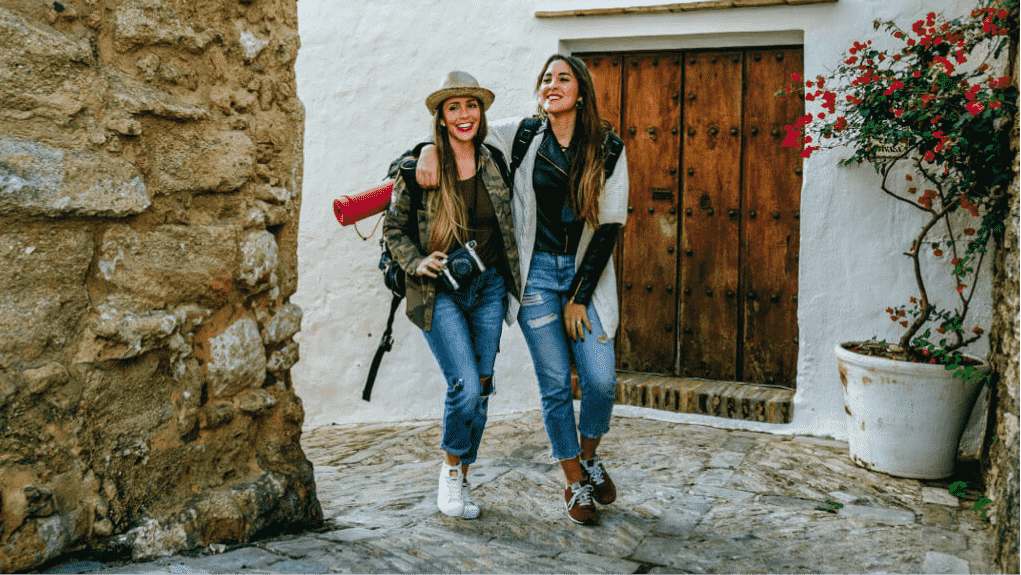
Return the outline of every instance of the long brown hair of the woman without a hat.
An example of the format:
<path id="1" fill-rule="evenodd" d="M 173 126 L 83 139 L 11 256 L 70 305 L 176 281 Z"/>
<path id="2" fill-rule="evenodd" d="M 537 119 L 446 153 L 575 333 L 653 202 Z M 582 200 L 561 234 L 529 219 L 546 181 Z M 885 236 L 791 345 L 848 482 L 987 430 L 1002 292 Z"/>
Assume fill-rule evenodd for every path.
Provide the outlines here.
<path id="1" fill-rule="evenodd" d="M 563 60 L 571 66 L 578 81 L 578 105 L 575 112 L 575 129 L 571 137 L 571 148 L 575 152 L 575 160 L 571 163 L 571 191 L 568 194 L 571 209 L 575 214 L 587 222 L 593 228 L 599 227 L 599 196 L 606 185 L 604 172 L 605 154 L 603 140 L 610 131 L 610 123 L 599 115 L 595 103 L 595 83 L 588 71 L 585 62 L 575 56 L 553 54 L 539 71 L 535 81 L 535 92 L 542 88 L 542 77 L 549 64 Z M 539 115 L 546 117 L 546 110 L 539 103 Z"/>

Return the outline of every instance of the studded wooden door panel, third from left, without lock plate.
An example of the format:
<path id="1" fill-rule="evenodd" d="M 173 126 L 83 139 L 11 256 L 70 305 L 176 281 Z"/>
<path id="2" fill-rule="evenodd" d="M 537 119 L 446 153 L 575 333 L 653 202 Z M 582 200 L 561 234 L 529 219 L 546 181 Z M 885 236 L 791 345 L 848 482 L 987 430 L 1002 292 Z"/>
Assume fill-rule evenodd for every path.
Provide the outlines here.
<path id="1" fill-rule="evenodd" d="M 741 52 L 684 58 L 683 376 L 737 378 L 741 62 Z"/>

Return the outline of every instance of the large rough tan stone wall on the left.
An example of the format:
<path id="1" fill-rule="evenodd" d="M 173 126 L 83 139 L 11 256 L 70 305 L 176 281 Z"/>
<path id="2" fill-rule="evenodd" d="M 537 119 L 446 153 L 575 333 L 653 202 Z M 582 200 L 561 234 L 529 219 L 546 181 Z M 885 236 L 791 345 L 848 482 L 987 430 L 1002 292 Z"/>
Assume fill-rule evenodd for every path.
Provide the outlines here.
<path id="1" fill-rule="evenodd" d="M 0 572 L 322 519 L 295 0 L 0 4 Z"/>

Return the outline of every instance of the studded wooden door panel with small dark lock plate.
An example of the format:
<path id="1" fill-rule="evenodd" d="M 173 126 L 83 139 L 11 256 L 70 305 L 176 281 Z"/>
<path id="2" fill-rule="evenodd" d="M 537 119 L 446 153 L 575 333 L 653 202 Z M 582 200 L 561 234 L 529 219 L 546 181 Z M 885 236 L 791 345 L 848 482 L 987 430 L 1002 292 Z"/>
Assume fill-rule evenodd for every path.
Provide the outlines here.
<path id="1" fill-rule="evenodd" d="M 673 373 L 677 322 L 677 161 L 679 57 L 623 60 L 621 133 L 631 183 L 621 259 L 623 369 Z"/>

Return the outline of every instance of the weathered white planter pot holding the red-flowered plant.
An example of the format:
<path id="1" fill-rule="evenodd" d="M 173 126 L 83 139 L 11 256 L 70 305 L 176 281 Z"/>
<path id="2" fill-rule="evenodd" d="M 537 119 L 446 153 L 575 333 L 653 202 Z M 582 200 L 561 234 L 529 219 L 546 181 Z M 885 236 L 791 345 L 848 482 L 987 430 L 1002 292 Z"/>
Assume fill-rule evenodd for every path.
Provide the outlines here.
<path id="1" fill-rule="evenodd" d="M 835 352 L 850 459 L 900 477 L 951 475 L 981 384 L 964 383 L 943 366 L 861 355 L 841 345 Z M 976 369 L 988 372 L 989 365 Z"/>

